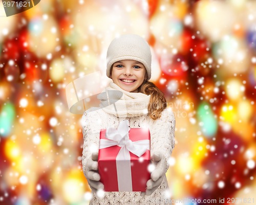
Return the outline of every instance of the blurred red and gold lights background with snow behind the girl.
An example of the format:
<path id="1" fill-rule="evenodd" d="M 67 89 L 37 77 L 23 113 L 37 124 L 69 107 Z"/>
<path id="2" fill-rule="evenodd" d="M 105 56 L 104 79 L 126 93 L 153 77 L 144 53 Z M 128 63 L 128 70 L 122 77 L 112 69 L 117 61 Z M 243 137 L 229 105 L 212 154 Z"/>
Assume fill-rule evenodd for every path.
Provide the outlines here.
<path id="1" fill-rule="evenodd" d="M 83 95 L 98 94 L 92 91 L 101 91 L 110 79 L 83 81 L 82 94 L 66 88 L 90 73 L 105 76 L 107 46 L 123 33 L 137 33 L 150 44 L 151 81 L 176 118 L 176 145 L 167 159 L 170 190 L 163 195 L 196 198 L 195 193 L 217 195 L 221 190 L 225 197 L 240 197 L 241 192 L 251 197 L 256 163 L 256 4 L 237 2 L 117 1 L 113 6 L 104 1 L 48 1 L 32 13 L 4 17 L 1 204 L 88 204 L 92 199 L 82 173 L 86 125 L 81 114 L 98 104 Z M 243 25 L 235 11 L 246 17 Z M 71 106 L 80 99 L 80 115 L 75 115 Z M 97 152 L 97 144 L 89 150 Z M 148 171 L 155 168 L 152 164 Z M 104 191 L 97 196 L 103 197 Z"/>

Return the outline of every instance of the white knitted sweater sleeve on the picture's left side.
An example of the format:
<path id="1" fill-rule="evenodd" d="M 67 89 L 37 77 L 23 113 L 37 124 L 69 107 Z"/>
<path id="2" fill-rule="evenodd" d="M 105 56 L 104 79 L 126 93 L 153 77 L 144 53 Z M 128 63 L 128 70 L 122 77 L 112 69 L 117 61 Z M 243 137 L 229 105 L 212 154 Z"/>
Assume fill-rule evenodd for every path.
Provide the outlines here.
<path id="1" fill-rule="evenodd" d="M 83 150 L 82 150 L 82 170 L 87 177 L 88 159 L 91 158 L 92 152 L 98 151 L 99 133 L 101 127 L 100 118 L 96 112 L 85 112 L 82 116 L 82 133 L 83 133 Z"/>

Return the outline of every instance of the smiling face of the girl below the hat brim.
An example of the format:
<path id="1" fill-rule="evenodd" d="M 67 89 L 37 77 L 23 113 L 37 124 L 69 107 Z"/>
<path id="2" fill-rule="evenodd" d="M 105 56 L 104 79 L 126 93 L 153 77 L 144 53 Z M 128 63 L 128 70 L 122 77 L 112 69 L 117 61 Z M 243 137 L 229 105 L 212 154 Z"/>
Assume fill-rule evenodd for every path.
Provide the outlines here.
<path id="1" fill-rule="evenodd" d="M 113 64 L 111 79 L 127 92 L 138 92 L 138 88 L 146 79 L 145 66 L 134 60 L 122 60 Z"/>

